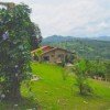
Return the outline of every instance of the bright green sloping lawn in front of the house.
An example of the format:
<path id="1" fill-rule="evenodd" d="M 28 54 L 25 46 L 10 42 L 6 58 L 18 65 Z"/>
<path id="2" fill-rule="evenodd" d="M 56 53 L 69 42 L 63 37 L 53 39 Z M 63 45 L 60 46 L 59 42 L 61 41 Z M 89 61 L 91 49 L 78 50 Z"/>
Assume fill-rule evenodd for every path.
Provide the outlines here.
<path id="1" fill-rule="evenodd" d="M 32 92 L 23 84 L 22 95 L 30 100 L 20 102 L 15 110 L 28 110 L 38 108 L 38 110 L 110 110 L 110 84 L 97 80 L 89 80 L 94 88 L 94 96 L 81 97 L 78 88 L 74 85 L 75 78 L 68 74 L 66 80 L 63 79 L 64 69 L 51 64 L 32 64 L 33 74 L 40 80 L 32 81 Z M 33 97 L 33 101 L 32 98 Z M 4 103 L 0 103 L 2 109 L 7 109 Z M 36 109 L 33 109 L 36 110 Z"/>

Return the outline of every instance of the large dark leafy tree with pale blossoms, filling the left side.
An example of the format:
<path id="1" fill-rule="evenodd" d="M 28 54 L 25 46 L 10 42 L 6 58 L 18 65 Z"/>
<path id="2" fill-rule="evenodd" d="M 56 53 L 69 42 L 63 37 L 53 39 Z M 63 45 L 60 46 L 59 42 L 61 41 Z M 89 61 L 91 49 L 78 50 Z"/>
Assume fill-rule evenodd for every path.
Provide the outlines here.
<path id="1" fill-rule="evenodd" d="M 19 100 L 21 82 L 31 78 L 30 37 L 35 31 L 30 13 L 25 4 L 0 9 L 0 86 L 9 100 Z"/>

